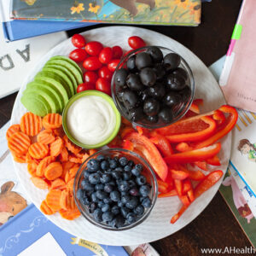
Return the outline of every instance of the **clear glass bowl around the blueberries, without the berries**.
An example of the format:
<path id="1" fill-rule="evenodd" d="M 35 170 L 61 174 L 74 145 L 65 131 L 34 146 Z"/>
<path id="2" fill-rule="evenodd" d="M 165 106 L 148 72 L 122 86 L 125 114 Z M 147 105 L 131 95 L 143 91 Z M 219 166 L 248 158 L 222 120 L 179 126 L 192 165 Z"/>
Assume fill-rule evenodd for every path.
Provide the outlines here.
<path id="1" fill-rule="evenodd" d="M 135 164 L 141 164 L 143 165 L 143 174 L 145 177 L 147 177 L 147 183 L 151 185 L 151 190 L 149 193 L 149 198 L 151 199 L 151 207 L 145 208 L 145 211 L 142 216 L 137 218 L 137 221 L 132 223 L 132 224 L 125 224 L 124 226 L 120 228 L 114 228 L 108 224 L 97 222 L 95 218 L 93 218 L 92 213 L 89 211 L 89 206 L 85 206 L 81 201 L 79 201 L 77 197 L 77 191 L 78 189 L 81 189 L 81 181 L 83 180 L 83 173 L 87 169 L 86 165 L 89 160 L 91 159 L 96 159 L 98 155 L 104 155 L 105 157 L 111 157 L 113 158 L 114 156 L 118 156 L 119 158 L 122 156 L 125 156 L 127 160 L 133 160 Z M 147 160 L 144 160 L 143 157 L 140 155 L 131 152 L 130 150 L 122 149 L 122 148 L 108 148 L 108 149 L 103 149 L 95 154 L 92 154 L 87 160 L 84 161 L 84 163 L 79 167 L 79 171 L 77 172 L 75 179 L 74 179 L 74 184 L 73 184 L 73 194 L 74 194 L 74 199 L 76 202 L 77 207 L 79 208 L 79 211 L 82 213 L 84 218 L 86 218 L 88 221 L 90 221 L 91 224 L 96 225 L 97 227 L 100 227 L 104 230 L 113 230 L 113 231 L 120 231 L 120 230 L 129 230 L 131 228 L 136 227 L 138 224 L 143 223 L 143 221 L 148 218 L 149 213 L 152 211 L 155 201 L 157 199 L 158 195 L 158 185 L 157 185 L 157 180 L 154 174 L 154 171 L 152 167 L 148 164 Z"/>

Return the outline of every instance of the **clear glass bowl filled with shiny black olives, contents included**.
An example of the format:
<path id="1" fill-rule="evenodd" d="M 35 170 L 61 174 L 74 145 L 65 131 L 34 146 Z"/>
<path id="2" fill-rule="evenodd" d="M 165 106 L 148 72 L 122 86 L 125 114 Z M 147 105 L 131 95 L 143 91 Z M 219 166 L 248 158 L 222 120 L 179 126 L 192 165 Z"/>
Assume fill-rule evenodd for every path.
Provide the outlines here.
<path id="1" fill-rule="evenodd" d="M 119 112 L 135 125 L 171 125 L 189 110 L 195 94 L 188 63 L 171 49 L 147 46 L 119 62 L 111 84 Z"/>

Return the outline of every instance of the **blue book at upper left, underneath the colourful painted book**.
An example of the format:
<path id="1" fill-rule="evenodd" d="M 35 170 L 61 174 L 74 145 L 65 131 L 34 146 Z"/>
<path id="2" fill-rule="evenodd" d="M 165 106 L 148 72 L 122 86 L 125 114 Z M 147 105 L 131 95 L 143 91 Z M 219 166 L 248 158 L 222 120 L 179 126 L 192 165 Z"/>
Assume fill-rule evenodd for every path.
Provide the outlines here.
<path id="1" fill-rule="evenodd" d="M 71 21 L 10 20 L 9 9 L 10 0 L 0 1 L 0 20 L 2 20 L 3 34 L 6 41 L 10 42 L 94 25 L 93 23 Z"/>

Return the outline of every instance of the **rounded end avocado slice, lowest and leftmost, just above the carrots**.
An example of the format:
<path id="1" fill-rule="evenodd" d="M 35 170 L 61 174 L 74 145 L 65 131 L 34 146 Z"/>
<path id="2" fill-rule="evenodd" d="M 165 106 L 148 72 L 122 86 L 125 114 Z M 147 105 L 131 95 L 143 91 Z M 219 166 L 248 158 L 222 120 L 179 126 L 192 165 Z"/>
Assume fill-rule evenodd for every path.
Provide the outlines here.
<path id="1" fill-rule="evenodd" d="M 39 116 L 45 116 L 49 113 L 48 106 L 45 105 L 44 98 L 35 96 L 33 93 L 27 93 L 20 99 L 23 106 L 30 112 Z"/>

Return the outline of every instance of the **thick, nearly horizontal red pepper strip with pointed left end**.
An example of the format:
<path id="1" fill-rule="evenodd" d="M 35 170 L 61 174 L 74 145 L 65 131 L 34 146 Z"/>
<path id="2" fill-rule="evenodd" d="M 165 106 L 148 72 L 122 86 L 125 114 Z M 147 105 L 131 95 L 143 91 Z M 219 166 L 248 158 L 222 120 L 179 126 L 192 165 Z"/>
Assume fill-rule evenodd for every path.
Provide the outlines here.
<path id="1" fill-rule="evenodd" d="M 172 154 L 171 156 L 166 157 L 165 161 L 167 164 L 168 163 L 183 164 L 183 163 L 190 163 L 190 162 L 195 162 L 199 160 L 206 160 L 208 158 L 211 158 L 215 154 L 218 154 L 220 148 L 221 148 L 221 144 L 216 143 L 206 148 L 199 148 L 199 149 L 195 149 L 187 152 Z"/>

